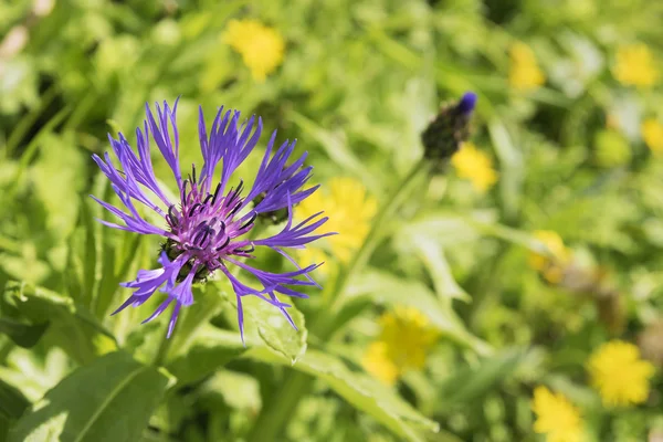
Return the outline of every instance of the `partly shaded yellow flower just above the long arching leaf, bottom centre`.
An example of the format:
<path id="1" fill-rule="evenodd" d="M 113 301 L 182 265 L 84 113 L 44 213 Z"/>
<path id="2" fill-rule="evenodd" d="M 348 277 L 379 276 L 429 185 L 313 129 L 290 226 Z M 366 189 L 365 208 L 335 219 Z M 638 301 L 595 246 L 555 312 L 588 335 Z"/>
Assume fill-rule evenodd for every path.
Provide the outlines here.
<path id="1" fill-rule="evenodd" d="M 423 368 L 428 351 L 438 339 L 428 318 L 417 308 L 397 307 L 383 314 L 379 323 L 380 337 L 362 359 L 366 370 L 391 385 L 404 371 Z"/>

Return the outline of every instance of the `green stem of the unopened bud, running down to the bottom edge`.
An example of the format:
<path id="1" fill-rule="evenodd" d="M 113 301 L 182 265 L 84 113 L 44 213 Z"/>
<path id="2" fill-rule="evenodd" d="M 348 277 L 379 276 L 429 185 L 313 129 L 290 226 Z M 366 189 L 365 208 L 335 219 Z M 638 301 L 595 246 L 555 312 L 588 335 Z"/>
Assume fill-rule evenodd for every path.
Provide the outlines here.
<path id="1" fill-rule="evenodd" d="M 334 290 L 332 291 L 330 305 L 327 308 L 323 307 L 318 320 L 313 320 L 315 326 L 311 332 L 320 340 L 324 341 L 328 339 L 336 332 L 335 319 L 343 306 L 344 293 L 348 282 L 357 271 L 364 267 L 370 257 L 381 239 L 383 224 L 401 206 L 404 198 L 408 196 L 411 183 L 414 178 L 419 176 L 421 170 L 425 170 L 425 159 L 417 162 L 389 196 L 387 202 L 375 218 L 371 229 L 364 240 L 361 248 L 345 269 L 345 272 L 339 273 Z M 248 440 L 255 442 L 278 440 L 278 436 L 283 433 L 290 418 L 292 418 L 293 413 L 296 411 L 299 400 L 308 393 L 312 386 L 313 378 L 308 375 L 294 370 L 288 371 L 285 382 L 283 382 L 280 391 L 275 394 L 277 400 L 269 402 L 265 406 L 253 424 L 252 432 Z"/>

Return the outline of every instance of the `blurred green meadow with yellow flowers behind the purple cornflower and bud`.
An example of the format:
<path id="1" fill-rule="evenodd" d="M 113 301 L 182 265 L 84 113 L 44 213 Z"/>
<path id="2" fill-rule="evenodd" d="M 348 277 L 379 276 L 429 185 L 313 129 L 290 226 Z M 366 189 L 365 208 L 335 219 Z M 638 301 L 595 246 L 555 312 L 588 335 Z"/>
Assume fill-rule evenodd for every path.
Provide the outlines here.
<path id="1" fill-rule="evenodd" d="M 646 0 L 0 0 L 0 440 L 660 441 L 661 23 Z M 471 140 L 411 178 L 466 91 Z M 295 212 L 339 235 L 298 255 L 326 262 L 299 332 L 251 304 L 242 347 L 219 281 L 166 349 L 149 307 L 108 316 L 159 244 L 94 221 L 91 155 L 178 96 L 185 170 L 199 104 L 309 152 Z"/>

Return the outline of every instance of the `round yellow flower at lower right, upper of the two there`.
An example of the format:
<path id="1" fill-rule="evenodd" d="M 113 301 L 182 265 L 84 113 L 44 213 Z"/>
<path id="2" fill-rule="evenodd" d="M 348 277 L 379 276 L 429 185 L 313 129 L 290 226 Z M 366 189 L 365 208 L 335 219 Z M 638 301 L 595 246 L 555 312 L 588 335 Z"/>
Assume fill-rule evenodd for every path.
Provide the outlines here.
<path id="1" fill-rule="evenodd" d="M 654 366 L 640 358 L 640 349 L 623 340 L 611 340 L 589 358 L 592 386 L 608 407 L 642 403 L 649 397 Z"/>

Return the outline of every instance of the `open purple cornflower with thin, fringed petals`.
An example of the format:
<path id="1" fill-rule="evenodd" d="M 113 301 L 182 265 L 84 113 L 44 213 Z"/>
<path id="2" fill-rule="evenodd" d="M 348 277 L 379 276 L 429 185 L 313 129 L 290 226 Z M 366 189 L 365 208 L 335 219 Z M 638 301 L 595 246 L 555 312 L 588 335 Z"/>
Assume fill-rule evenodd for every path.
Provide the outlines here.
<path id="1" fill-rule="evenodd" d="M 159 287 L 167 298 L 144 323 L 159 316 L 170 304 L 173 304 L 168 337 L 177 322 L 182 306 L 193 303 L 191 286 L 203 281 L 214 271 L 222 272 L 230 281 L 238 302 L 238 319 L 243 339 L 242 297 L 257 296 L 278 308 L 287 320 L 295 324 L 276 293 L 285 296 L 307 297 L 288 286 L 311 286 L 317 284 L 309 273 L 320 264 L 301 269 L 284 249 L 302 249 L 304 244 L 326 236 L 315 230 L 323 225 L 327 218 L 322 212 L 293 223 L 293 204 L 302 201 L 316 189 L 303 189 L 311 176 L 312 167 L 304 167 L 306 154 L 292 164 L 288 158 L 295 148 L 295 141 L 287 140 L 274 152 L 276 131 L 272 134 L 264 158 L 257 169 L 255 180 L 245 196 L 244 186 L 239 181 L 236 187 L 228 189 L 233 171 L 251 154 L 262 131 L 262 119 L 252 116 L 240 125 L 240 113 L 223 112 L 220 108 L 208 135 L 202 107 L 199 110 L 198 131 L 203 165 L 197 175 L 192 166 L 188 178 L 182 179 L 179 165 L 179 136 L 176 124 L 177 101 L 172 109 L 164 102 L 164 108 L 156 105 L 156 118 L 146 105 L 144 130 L 136 128 L 138 155 L 131 149 L 123 134 L 119 140 L 108 136 L 110 146 L 119 161 L 119 168 L 113 164 L 108 152 L 104 159 L 94 155 L 95 162 L 112 182 L 113 190 L 124 204 L 120 210 L 94 196 L 95 201 L 110 213 L 119 218 L 124 224 L 101 221 L 105 225 L 141 234 L 156 234 L 165 238 L 162 251 L 158 259 L 160 269 L 141 270 L 135 281 L 122 285 L 134 290 L 131 296 L 117 308 L 113 315 L 130 306 L 144 304 Z M 149 147 L 149 134 L 159 151 L 170 166 L 179 191 L 179 200 L 166 197 L 155 177 Z M 214 177 L 217 166 L 221 164 L 221 180 Z M 139 202 L 154 210 L 162 220 L 162 225 L 146 221 L 136 208 Z M 286 209 L 287 222 L 281 232 L 265 239 L 250 239 L 248 233 L 254 228 L 256 218 L 274 211 Z M 252 259 L 255 246 L 267 246 L 285 256 L 296 270 L 286 273 L 271 273 L 257 270 L 243 259 Z M 252 288 L 239 281 L 229 269 L 229 264 L 238 266 L 253 275 L 261 285 Z M 296 328 L 296 327 L 295 327 Z"/>

